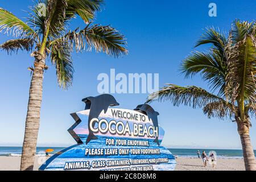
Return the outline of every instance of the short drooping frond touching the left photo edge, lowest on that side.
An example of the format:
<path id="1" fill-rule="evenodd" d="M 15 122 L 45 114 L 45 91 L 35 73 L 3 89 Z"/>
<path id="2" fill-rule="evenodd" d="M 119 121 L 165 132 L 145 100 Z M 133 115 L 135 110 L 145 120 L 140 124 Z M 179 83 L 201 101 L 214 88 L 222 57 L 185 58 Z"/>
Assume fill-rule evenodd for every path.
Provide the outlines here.
<path id="1" fill-rule="evenodd" d="M 19 49 L 22 51 L 32 51 L 33 46 L 33 39 L 14 39 L 7 40 L 5 43 L 0 45 L 0 48 L 11 54 L 12 52 L 17 52 Z"/>

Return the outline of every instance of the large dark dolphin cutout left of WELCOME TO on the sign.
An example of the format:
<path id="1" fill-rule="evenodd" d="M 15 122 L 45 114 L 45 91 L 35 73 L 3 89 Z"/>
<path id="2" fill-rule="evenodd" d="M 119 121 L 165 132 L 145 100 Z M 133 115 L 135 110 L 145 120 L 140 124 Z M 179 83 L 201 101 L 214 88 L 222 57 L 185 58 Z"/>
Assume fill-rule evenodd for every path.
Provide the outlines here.
<path id="1" fill-rule="evenodd" d="M 98 118 L 101 114 L 102 110 L 104 110 L 104 113 L 108 110 L 109 106 L 118 106 L 118 102 L 115 100 L 115 98 L 110 94 L 102 94 L 100 96 L 96 97 L 86 97 L 82 99 L 82 102 L 85 102 L 85 110 L 90 109 L 89 117 L 88 117 L 88 130 L 89 135 L 86 139 L 86 144 L 90 142 L 90 140 L 98 139 L 90 130 L 89 123 L 93 118 Z M 93 127 L 94 127 L 93 123 Z"/>

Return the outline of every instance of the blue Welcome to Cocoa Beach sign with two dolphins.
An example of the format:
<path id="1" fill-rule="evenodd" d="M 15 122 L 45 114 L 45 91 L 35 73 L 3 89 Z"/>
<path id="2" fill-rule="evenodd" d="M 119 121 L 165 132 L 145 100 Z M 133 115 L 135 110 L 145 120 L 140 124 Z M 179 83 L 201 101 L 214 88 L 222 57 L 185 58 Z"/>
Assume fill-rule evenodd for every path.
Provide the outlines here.
<path id="1" fill-rule="evenodd" d="M 85 110 L 71 114 L 76 123 L 68 130 L 77 144 L 51 156 L 40 170 L 174 170 L 174 156 L 160 146 L 159 113 L 150 105 L 117 109 L 109 94 L 82 101 Z"/>

